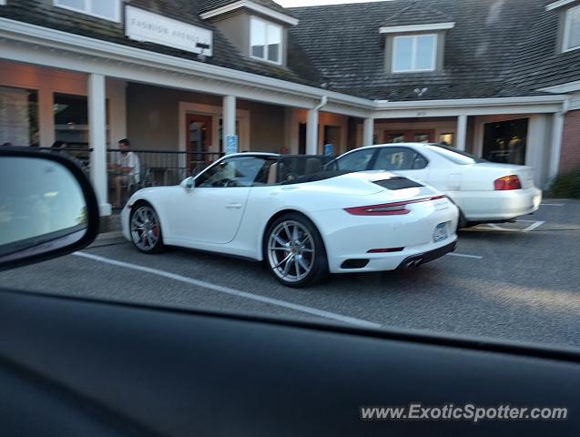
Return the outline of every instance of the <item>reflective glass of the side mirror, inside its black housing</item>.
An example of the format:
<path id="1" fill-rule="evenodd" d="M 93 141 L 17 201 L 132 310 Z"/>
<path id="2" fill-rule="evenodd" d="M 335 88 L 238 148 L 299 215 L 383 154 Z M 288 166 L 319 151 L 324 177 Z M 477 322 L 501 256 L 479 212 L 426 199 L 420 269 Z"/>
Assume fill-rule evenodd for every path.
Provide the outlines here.
<path id="1" fill-rule="evenodd" d="M 0 262 L 74 244 L 86 234 L 86 200 L 75 176 L 42 158 L 0 158 Z"/>

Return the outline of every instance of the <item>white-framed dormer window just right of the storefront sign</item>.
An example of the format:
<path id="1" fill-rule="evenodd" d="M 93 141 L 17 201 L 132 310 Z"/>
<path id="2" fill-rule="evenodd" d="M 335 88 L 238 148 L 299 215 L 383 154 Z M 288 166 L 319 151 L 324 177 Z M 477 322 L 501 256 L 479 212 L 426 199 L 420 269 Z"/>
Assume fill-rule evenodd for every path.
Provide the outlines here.
<path id="1" fill-rule="evenodd" d="M 281 64 L 282 27 L 255 16 L 250 18 L 249 27 L 249 56 Z"/>

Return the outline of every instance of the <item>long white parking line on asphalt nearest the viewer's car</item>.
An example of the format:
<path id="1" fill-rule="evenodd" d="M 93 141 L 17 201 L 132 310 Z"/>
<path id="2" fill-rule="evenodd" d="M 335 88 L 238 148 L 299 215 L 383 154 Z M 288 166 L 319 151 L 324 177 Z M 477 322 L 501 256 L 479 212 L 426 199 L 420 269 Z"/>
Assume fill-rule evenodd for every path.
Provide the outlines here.
<path id="1" fill-rule="evenodd" d="M 202 288 L 208 289 L 208 290 L 219 291 L 220 293 L 229 294 L 230 296 L 236 296 L 239 298 L 244 298 L 244 299 L 249 299 L 249 300 L 256 300 L 256 301 L 263 302 L 263 303 L 269 303 L 270 305 L 276 305 L 278 307 L 288 308 L 290 310 L 305 312 L 307 314 L 323 317 L 326 319 L 338 320 L 338 321 L 341 321 L 343 323 L 349 323 L 351 325 L 361 326 L 363 328 L 380 328 L 382 326 L 381 324 L 374 323 L 372 321 L 355 319 L 353 317 L 343 316 L 341 314 L 336 314 L 334 312 L 329 312 L 329 311 L 325 311 L 325 310 L 317 310 L 316 308 L 306 307 L 304 305 L 299 305 L 296 303 L 287 302 L 285 300 L 272 299 L 272 298 L 267 298 L 265 296 L 260 296 L 259 294 L 249 293 L 247 291 L 230 289 L 229 287 L 223 287 L 221 285 L 212 284 L 211 282 L 206 282 L 204 280 L 188 278 L 186 276 L 177 275 L 175 273 L 171 273 L 171 272 L 165 271 L 165 270 L 150 269 L 150 268 L 145 267 L 145 266 L 139 266 L 138 264 L 131 264 L 131 263 L 124 262 L 124 261 L 117 261 L 116 259 L 108 259 L 108 258 L 104 258 L 104 257 L 99 257 L 97 255 L 93 255 L 93 254 L 85 253 L 85 252 L 75 252 L 73 255 L 76 255 L 77 257 L 86 258 L 86 259 L 92 259 L 92 260 L 97 261 L 97 262 L 103 262 L 105 264 L 110 264 L 112 266 L 123 267 L 125 269 L 144 271 L 144 272 L 149 273 L 151 275 L 157 275 L 157 276 L 161 276 L 163 278 L 177 280 L 179 282 L 184 282 L 186 284 L 194 285 L 196 287 L 202 287 Z"/>

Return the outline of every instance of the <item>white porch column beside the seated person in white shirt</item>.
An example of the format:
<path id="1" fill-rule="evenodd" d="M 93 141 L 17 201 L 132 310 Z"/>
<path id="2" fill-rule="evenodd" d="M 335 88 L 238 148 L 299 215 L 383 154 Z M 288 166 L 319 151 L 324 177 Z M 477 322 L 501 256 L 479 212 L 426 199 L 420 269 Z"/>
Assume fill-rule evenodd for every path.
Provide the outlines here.
<path id="1" fill-rule="evenodd" d="M 101 216 L 111 215 L 107 198 L 107 125 L 105 114 L 105 76 L 90 74 L 87 81 L 88 147 L 91 153 L 91 181 L 97 193 Z"/>

